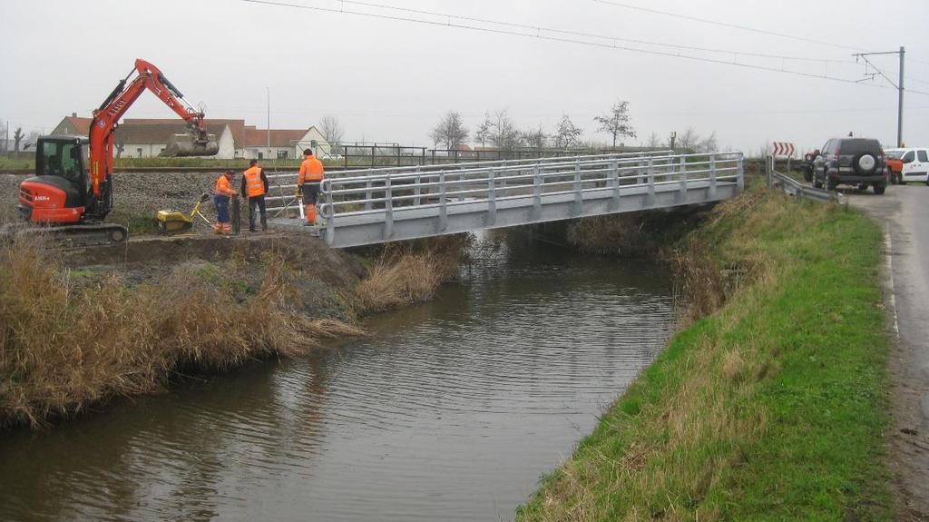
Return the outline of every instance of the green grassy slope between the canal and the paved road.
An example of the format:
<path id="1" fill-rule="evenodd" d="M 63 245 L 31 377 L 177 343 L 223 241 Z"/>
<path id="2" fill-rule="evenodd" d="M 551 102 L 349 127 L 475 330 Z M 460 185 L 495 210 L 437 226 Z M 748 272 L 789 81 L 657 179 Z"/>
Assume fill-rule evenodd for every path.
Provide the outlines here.
<path id="1" fill-rule="evenodd" d="M 752 283 L 679 333 L 525 520 L 888 519 L 880 229 L 750 193 L 692 238 Z"/>

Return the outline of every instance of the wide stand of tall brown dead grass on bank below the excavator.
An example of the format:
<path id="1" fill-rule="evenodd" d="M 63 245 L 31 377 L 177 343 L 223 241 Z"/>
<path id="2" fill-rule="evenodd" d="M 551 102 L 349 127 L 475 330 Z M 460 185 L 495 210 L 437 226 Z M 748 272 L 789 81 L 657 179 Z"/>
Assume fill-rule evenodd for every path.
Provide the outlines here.
<path id="1" fill-rule="evenodd" d="M 229 369 L 360 333 L 291 310 L 286 270 L 268 256 L 260 291 L 239 302 L 231 285 L 183 269 L 131 289 L 112 276 L 77 288 L 33 241 L 0 246 L 0 426 L 154 392 L 178 369 Z"/>

